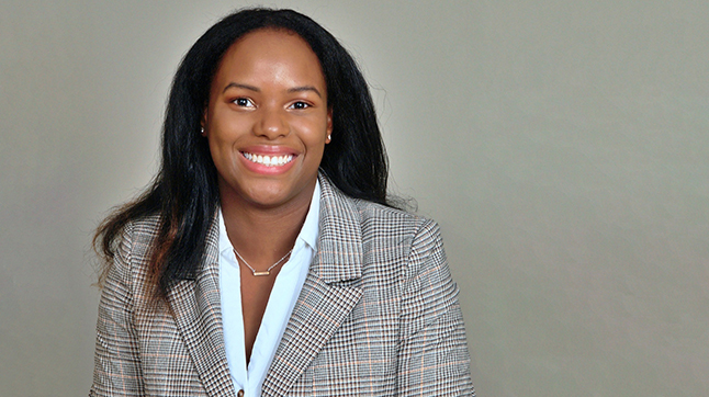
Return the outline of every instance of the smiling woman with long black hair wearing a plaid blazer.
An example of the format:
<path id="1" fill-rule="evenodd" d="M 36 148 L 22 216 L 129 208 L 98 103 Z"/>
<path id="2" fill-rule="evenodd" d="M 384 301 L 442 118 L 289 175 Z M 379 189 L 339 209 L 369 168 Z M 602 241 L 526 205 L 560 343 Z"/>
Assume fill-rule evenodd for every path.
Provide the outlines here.
<path id="1" fill-rule="evenodd" d="M 290 10 L 211 27 L 153 185 L 109 217 L 92 396 L 471 395 L 438 226 L 395 209 L 353 59 Z"/>

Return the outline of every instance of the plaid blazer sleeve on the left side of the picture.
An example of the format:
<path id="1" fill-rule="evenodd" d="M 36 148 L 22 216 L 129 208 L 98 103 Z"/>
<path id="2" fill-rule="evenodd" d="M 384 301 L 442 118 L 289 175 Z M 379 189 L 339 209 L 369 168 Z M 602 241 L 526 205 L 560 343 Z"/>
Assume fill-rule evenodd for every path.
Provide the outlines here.
<path id="1" fill-rule="evenodd" d="M 132 226 L 126 226 L 106 275 L 97 322 L 89 396 L 143 396 L 138 339 L 133 326 Z"/>

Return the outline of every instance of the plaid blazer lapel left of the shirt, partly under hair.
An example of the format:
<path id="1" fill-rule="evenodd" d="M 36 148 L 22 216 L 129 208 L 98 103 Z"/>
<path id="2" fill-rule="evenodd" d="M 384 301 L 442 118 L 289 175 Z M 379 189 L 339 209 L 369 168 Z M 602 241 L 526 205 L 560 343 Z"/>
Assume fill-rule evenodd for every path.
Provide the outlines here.
<path id="1" fill-rule="evenodd" d="M 206 240 L 203 270 L 194 281 L 182 281 L 168 294 L 168 303 L 209 396 L 234 396 L 224 348 L 218 290 L 218 227 L 213 223 Z"/>

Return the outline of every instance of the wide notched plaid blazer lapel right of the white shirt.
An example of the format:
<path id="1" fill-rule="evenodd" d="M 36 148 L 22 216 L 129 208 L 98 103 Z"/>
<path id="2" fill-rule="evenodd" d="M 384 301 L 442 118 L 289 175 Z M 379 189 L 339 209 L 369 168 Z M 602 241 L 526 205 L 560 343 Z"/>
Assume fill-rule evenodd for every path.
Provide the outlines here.
<path id="1" fill-rule="evenodd" d="M 285 395 L 359 302 L 362 237 L 351 198 L 320 175 L 317 252 L 261 387 L 262 396 Z"/>

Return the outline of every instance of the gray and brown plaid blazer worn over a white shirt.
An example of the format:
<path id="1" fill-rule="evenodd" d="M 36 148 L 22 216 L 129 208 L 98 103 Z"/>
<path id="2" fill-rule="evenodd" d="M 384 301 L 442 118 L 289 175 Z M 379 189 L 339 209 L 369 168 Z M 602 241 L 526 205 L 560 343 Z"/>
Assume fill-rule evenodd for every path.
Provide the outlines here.
<path id="1" fill-rule="evenodd" d="M 317 252 L 262 396 L 474 396 L 458 288 L 432 220 L 320 175 Z M 157 217 L 126 226 L 102 292 L 90 396 L 236 396 L 214 223 L 196 280 L 148 304 Z"/>

